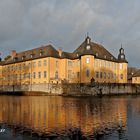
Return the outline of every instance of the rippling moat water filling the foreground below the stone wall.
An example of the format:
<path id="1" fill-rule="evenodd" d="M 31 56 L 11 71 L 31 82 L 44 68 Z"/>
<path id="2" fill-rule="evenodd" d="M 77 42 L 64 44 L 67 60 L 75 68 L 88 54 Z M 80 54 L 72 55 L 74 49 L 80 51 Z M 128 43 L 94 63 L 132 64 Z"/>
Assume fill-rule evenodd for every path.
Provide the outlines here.
<path id="1" fill-rule="evenodd" d="M 0 96 L 0 140 L 140 140 L 140 96 Z"/>

